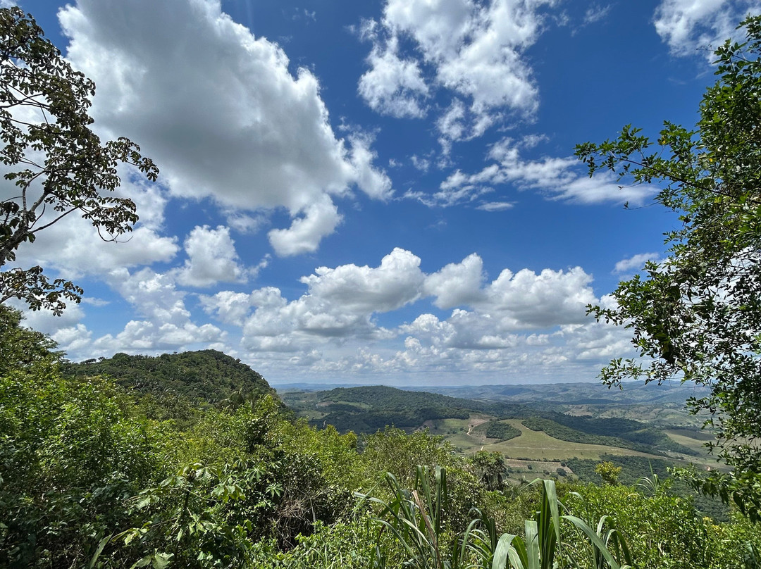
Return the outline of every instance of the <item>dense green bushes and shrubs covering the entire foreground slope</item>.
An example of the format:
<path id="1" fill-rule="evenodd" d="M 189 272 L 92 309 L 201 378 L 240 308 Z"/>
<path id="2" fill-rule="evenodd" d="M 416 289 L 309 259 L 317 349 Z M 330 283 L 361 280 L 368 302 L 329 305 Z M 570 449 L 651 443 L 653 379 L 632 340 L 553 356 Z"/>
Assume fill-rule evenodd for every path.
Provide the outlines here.
<path id="1" fill-rule="evenodd" d="M 537 560 L 573 567 L 741 567 L 761 547 L 759 526 L 702 518 L 662 486 L 515 488 L 499 453 L 457 456 L 425 431 L 317 429 L 269 389 L 212 405 L 172 379 L 161 398 L 119 381 L 166 358 L 110 358 L 119 380 L 88 376 L 94 363 L 63 363 L 13 310 L 0 324 L 0 566 L 521 567 L 511 555 L 537 531 L 560 536 Z M 180 362 L 198 378 L 231 360 Z"/>

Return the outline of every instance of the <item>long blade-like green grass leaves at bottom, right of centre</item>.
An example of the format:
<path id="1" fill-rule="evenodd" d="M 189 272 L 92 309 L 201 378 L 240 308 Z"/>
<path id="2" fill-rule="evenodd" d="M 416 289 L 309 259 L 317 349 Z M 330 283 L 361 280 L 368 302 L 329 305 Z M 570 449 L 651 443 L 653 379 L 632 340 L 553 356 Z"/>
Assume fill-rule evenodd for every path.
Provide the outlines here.
<path id="1" fill-rule="evenodd" d="M 524 537 L 508 533 L 497 537 L 494 520 L 479 510 L 473 510 L 476 517 L 459 536 L 453 537 L 447 533 L 441 523 L 442 504 L 447 501 L 444 469 L 436 469 L 435 485 L 431 486 L 425 469 L 420 467 L 416 489 L 412 491 L 402 488 L 393 475 L 387 475 L 387 482 L 392 490 L 392 499 L 383 501 L 369 497 L 369 500 L 381 507 L 380 517 L 374 521 L 388 529 L 401 546 L 403 565 L 406 567 L 551 569 L 558 567 L 561 561 L 563 566 L 596 569 L 625 569 L 631 566 L 626 541 L 615 528 L 610 527 L 607 517 L 600 520 L 595 530 L 578 517 L 560 515 L 562 504 L 551 480 L 536 481 L 542 485 L 540 509 L 533 519 L 525 521 Z M 368 498 L 365 495 L 361 497 Z M 562 521 L 568 524 L 562 525 Z M 588 542 L 591 564 L 583 565 L 583 558 L 573 558 L 563 551 L 562 534 L 567 538 L 568 529 L 572 532 L 578 530 L 584 536 L 581 542 Z M 583 551 L 583 547 L 578 543 L 578 551 Z M 626 564 L 620 564 L 619 559 L 625 559 Z M 387 557 L 380 546 L 376 548 L 374 566 L 387 566 Z"/>

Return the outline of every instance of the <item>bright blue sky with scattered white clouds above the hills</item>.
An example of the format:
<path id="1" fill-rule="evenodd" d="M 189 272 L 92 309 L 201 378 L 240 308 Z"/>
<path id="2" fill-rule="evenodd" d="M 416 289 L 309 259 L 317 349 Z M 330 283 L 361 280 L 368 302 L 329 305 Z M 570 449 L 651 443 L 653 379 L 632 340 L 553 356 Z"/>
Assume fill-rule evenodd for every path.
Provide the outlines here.
<path id="1" fill-rule="evenodd" d="M 3 0 L 3 5 L 10 5 Z M 585 315 L 663 255 L 656 191 L 582 141 L 693 125 L 747 0 L 20 2 L 94 79 L 141 221 L 20 251 L 74 278 L 29 313 L 69 358 L 215 348 L 271 383 L 594 380 L 631 354 Z M 624 209 L 623 203 L 630 208 Z"/>

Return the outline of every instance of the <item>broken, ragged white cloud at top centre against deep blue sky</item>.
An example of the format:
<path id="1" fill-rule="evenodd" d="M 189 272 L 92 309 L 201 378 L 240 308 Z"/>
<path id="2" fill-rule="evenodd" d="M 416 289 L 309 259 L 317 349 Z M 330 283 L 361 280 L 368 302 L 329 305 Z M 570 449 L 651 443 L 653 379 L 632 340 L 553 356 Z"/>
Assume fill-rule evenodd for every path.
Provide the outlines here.
<path id="1" fill-rule="evenodd" d="M 503 113 L 531 116 L 538 91 L 524 51 L 556 0 L 387 0 L 380 22 L 365 22 L 372 40 L 359 93 L 372 109 L 422 116 L 425 98 L 443 89 L 452 106 L 438 120 L 444 143 L 480 136 Z M 400 55 L 400 41 L 416 50 Z M 467 106 L 463 100 L 468 102 Z"/>

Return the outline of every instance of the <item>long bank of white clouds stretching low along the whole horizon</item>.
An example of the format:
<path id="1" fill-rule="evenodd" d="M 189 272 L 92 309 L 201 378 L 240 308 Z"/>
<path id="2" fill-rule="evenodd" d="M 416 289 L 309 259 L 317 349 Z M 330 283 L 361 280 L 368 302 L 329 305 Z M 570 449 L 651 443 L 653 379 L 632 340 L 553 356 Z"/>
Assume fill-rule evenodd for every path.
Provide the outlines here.
<path id="1" fill-rule="evenodd" d="M 224 227 L 191 233 L 199 243 L 208 238 L 230 245 Z M 64 319 L 30 318 L 75 358 L 214 345 L 290 380 L 298 373 L 313 380 L 391 373 L 458 382 L 461 374 L 572 379 L 593 377 L 594 367 L 612 355 L 631 352 L 626 330 L 586 316 L 587 304 L 608 300 L 594 296 L 591 275 L 579 267 L 504 269 L 489 279 L 476 253 L 429 274 L 420 265 L 418 256 L 397 248 L 376 266 L 318 267 L 299 279 L 306 290 L 293 299 L 272 286 L 196 296 L 177 288 L 177 271 L 114 269 L 110 285 L 135 314 L 121 332 L 94 338 L 81 323 L 80 307 Z M 224 330 L 196 322 L 186 304 L 196 297 Z M 430 313 L 418 304 L 424 299 L 451 312 Z M 406 323 L 387 328 L 378 322 L 379 315 L 400 309 L 411 315 Z"/>

